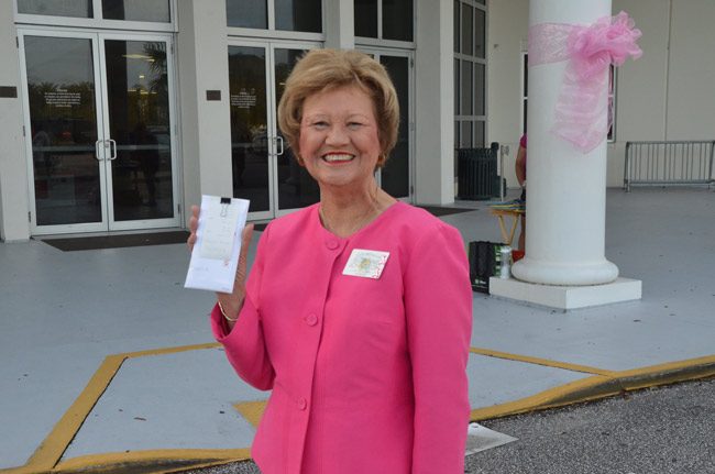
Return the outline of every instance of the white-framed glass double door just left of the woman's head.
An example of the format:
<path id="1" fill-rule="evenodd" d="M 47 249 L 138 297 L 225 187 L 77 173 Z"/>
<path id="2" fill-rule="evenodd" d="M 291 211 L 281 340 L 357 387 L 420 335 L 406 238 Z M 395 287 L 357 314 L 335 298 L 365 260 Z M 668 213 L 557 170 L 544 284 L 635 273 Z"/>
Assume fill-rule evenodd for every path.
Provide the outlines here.
<path id="1" fill-rule="evenodd" d="M 233 196 L 251 220 L 273 219 L 319 200 L 318 185 L 277 128 L 286 78 L 307 44 L 235 41 L 229 46 Z"/>

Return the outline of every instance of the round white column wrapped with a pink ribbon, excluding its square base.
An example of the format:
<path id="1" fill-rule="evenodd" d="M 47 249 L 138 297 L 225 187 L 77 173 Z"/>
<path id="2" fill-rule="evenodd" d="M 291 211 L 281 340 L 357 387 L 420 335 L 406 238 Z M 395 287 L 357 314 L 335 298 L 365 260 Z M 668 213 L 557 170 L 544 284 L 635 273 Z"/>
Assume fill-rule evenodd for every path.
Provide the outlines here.
<path id="1" fill-rule="evenodd" d="M 529 4 L 529 26 L 591 24 L 606 15 L 610 0 Z M 618 276 L 604 254 L 606 141 L 584 154 L 550 133 L 565 67 L 566 62 L 529 66 L 526 256 L 513 274 L 546 285 L 605 284 Z"/>

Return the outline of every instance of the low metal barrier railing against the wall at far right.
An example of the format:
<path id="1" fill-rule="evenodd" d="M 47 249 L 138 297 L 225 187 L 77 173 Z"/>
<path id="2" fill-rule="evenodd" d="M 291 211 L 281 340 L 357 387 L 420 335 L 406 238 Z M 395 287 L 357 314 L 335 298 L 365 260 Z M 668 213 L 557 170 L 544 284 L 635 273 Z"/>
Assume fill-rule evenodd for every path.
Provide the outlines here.
<path id="1" fill-rule="evenodd" d="M 631 186 L 712 185 L 715 141 L 626 142 L 624 189 Z"/>

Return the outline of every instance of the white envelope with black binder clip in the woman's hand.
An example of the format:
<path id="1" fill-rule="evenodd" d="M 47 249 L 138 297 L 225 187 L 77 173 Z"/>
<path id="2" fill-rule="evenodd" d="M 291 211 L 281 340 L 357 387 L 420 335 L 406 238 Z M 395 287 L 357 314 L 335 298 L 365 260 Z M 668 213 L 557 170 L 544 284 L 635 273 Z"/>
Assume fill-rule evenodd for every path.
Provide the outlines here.
<path id="1" fill-rule="evenodd" d="M 196 245 L 186 274 L 185 288 L 231 293 L 241 253 L 241 232 L 249 201 L 201 196 Z"/>

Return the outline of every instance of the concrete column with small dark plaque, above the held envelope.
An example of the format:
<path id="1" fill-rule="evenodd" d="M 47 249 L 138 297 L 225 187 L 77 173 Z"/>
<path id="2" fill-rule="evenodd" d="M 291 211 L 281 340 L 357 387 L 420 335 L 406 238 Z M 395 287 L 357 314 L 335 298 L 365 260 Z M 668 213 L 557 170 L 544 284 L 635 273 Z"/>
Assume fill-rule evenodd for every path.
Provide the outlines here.
<path id="1" fill-rule="evenodd" d="M 233 192 L 228 34 L 226 0 L 177 3 L 184 200 L 188 207 L 198 205 L 201 194 Z M 184 213 L 185 219 L 189 216 Z"/>

